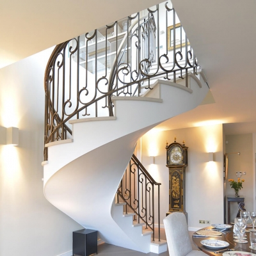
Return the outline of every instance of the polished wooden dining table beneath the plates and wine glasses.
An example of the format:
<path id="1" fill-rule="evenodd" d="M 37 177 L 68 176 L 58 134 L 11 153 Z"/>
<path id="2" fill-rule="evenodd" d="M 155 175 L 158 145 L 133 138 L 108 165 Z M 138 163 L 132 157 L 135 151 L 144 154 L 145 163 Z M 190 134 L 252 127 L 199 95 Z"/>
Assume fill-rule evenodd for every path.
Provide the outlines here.
<path id="1" fill-rule="evenodd" d="M 216 230 L 216 228 L 210 226 L 210 227 L 204 227 L 201 228 L 198 231 L 202 231 L 202 230 Z M 216 231 L 220 231 L 220 230 L 216 230 Z M 233 239 L 233 226 L 230 228 L 227 228 L 225 230 L 221 230 L 221 236 L 214 236 L 214 237 L 207 237 L 207 236 L 198 236 L 197 233 L 194 233 L 192 236 L 193 239 L 193 243 L 198 247 L 198 249 L 200 249 L 202 252 L 206 253 L 207 255 L 211 255 L 211 256 L 221 256 L 223 255 L 224 252 L 221 253 L 215 253 L 218 250 L 221 250 L 222 248 L 209 248 L 204 246 L 201 241 L 205 240 L 205 239 L 211 239 L 211 240 L 221 240 L 221 241 L 226 241 L 229 243 L 229 245 L 227 246 L 227 248 L 229 249 L 233 249 L 236 246 L 239 246 L 238 248 L 236 248 L 236 251 L 241 251 L 241 252 L 248 252 L 249 255 L 250 253 L 255 253 L 252 255 L 256 255 L 256 250 L 252 250 L 249 248 L 250 244 L 250 233 L 246 232 L 246 240 L 248 241 L 248 243 L 236 243 L 234 242 Z M 228 251 L 225 251 L 228 252 Z M 230 251 L 231 252 L 231 251 Z"/>

